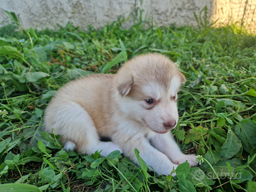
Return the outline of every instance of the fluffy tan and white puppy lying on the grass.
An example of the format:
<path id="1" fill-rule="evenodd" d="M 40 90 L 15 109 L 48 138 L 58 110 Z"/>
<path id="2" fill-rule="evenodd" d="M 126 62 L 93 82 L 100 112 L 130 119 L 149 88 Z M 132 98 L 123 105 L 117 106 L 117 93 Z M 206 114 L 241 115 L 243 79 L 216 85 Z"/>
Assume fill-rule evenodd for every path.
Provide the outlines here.
<path id="1" fill-rule="evenodd" d="M 178 122 L 178 90 L 185 82 L 169 58 L 140 55 L 116 75 L 89 75 L 62 87 L 46 109 L 44 127 L 61 135 L 64 149 L 81 154 L 119 150 L 139 165 L 137 148 L 149 169 L 169 175 L 184 161 L 197 165 L 196 156 L 182 154 L 170 132 Z M 106 137 L 111 142 L 100 140 Z"/>

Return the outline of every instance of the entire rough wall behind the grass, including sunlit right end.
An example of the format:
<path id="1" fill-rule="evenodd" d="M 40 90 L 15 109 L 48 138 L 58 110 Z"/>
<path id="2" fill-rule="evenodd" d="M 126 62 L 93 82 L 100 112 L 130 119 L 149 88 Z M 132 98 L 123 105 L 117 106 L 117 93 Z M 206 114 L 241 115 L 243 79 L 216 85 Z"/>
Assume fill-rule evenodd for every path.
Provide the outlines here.
<path id="1" fill-rule="evenodd" d="M 143 0 L 142 4 L 139 0 L 0 0 L 0 23 L 10 21 L 4 12 L 7 10 L 19 14 L 25 28 L 55 28 L 56 23 L 65 26 L 68 21 L 81 28 L 89 25 L 102 28 L 106 22 L 117 21 L 119 16 L 130 17 L 124 24 L 129 27 L 134 23 L 134 9 L 139 7 L 144 10 L 142 19 L 153 16 L 156 26 L 171 23 L 197 26 L 193 12 L 199 14 L 204 6 L 208 7 L 210 22 L 238 21 L 255 31 L 256 0 Z"/>

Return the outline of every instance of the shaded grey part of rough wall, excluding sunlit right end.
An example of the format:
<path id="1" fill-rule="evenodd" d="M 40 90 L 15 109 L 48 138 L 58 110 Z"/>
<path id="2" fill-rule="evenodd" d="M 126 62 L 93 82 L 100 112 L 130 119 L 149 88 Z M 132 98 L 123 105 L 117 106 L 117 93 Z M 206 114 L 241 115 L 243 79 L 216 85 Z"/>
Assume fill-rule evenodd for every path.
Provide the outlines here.
<path id="1" fill-rule="evenodd" d="M 143 18 L 153 16 L 158 26 L 196 25 L 193 11 L 198 13 L 204 6 L 211 9 L 212 0 L 144 0 L 142 5 L 137 1 L 136 6 L 144 9 Z M 129 27 L 134 9 L 134 0 L 0 0 L 0 22 L 9 20 L 3 11 L 7 10 L 19 14 L 25 28 L 54 28 L 56 23 L 65 26 L 68 21 L 82 28 L 101 28 L 106 22 L 117 21 L 118 16 L 130 16 Z"/>

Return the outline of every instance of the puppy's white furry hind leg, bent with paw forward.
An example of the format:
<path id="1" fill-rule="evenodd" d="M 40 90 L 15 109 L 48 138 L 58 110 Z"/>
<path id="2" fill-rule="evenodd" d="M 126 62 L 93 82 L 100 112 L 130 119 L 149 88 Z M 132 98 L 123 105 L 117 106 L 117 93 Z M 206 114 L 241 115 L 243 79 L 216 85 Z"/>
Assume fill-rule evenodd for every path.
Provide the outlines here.
<path id="1" fill-rule="evenodd" d="M 52 117 L 49 117 L 52 115 Z M 70 103 L 65 106 L 58 106 L 57 109 L 53 109 L 48 117 L 46 116 L 46 122 L 48 118 L 51 119 L 53 124 L 47 124 L 46 126 L 53 127 L 56 134 L 62 136 L 64 149 L 73 150 L 78 149 L 82 154 L 93 154 L 95 151 L 102 151 L 102 156 L 107 156 L 112 151 L 122 150 L 113 142 L 101 142 L 100 137 L 97 134 L 90 114 L 87 113 L 80 105 L 76 103 Z"/>

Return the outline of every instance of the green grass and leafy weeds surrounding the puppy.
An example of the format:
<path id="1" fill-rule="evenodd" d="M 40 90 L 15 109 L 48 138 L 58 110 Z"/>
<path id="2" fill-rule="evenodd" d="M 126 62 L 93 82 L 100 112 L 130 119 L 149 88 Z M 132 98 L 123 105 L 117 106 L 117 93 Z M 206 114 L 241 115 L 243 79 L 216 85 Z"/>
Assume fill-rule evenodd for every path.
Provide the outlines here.
<path id="1" fill-rule="evenodd" d="M 0 191 L 255 191 L 254 35 L 208 23 L 157 28 L 139 21 L 125 29 L 122 18 L 102 30 L 68 23 L 22 33 L 9 15 L 15 22 L 0 28 Z M 116 151 L 107 158 L 66 152 L 59 136 L 43 132 L 44 110 L 66 82 L 116 73 L 126 55 L 149 52 L 171 58 L 186 76 L 173 133 L 185 153 L 202 156 L 200 166 L 184 163 L 175 177 L 156 176 L 139 154 L 138 168 Z"/>

